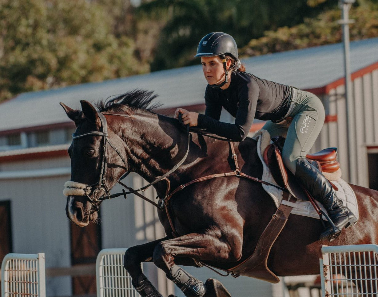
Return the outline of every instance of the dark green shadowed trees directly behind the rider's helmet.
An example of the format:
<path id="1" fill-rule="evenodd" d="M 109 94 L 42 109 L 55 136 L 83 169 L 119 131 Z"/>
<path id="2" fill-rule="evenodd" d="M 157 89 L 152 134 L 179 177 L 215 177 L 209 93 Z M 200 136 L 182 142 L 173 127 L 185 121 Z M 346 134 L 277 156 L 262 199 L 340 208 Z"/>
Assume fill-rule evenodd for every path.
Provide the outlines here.
<path id="1" fill-rule="evenodd" d="M 139 11 L 166 17 L 158 40 L 152 70 L 196 63 L 193 59 L 198 41 L 212 31 L 231 34 L 239 46 L 267 29 L 300 23 L 304 17 L 318 14 L 335 0 L 153 0 Z M 314 8 L 316 7 L 316 8 Z"/>

